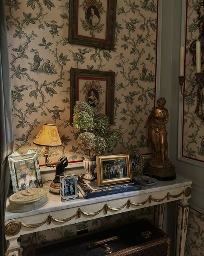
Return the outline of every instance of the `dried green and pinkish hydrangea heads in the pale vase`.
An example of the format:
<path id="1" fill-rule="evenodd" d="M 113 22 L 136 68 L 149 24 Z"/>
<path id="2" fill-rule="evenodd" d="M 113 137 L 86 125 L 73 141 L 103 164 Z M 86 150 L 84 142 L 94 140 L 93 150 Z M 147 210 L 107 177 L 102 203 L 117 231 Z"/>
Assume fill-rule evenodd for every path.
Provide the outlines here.
<path id="1" fill-rule="evenodd" d="M 77 101 L 74 106 L 73 126 L 79 130 L 77 144 L 88 156 L 110 153 L 121 137 L 119 130 L 110 128 L 107 115 L 96 113 L 83 101 Z"/>

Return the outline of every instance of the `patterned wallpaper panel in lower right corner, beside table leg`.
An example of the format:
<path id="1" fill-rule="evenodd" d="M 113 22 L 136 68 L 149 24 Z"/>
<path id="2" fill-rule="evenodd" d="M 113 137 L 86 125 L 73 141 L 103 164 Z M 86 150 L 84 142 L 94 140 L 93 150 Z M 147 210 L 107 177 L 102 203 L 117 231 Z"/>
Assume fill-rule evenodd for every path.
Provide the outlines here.
<path id="1" fill-rule="evenodd" d="M 204 214 L 190 208 L 185 256 L 204 255 Z"/>

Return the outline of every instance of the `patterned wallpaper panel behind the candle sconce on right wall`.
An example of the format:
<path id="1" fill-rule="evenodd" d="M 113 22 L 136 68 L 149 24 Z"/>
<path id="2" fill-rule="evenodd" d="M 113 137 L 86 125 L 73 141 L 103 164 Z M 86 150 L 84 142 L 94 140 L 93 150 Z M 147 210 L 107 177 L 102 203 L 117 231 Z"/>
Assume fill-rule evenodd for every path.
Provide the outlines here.
<path id="1" fill-rule="evenodd" d="M 198 39 L 198 5 L 201 0 L 187 0 L 187 26 L 186 26 L 186 62 L 185 62 L 185 89 L 190 92 L 195 81 L 196 66 L 192 63 L 193 55 L 191 53 L 191 45 L 194 40 Z M 201 8 L 202 12 L 203 8 Z M 202 22 L 202 20 L 200 20 Z M 203 25 L 202 25 L 203 26 Z M 194 56 L 195 58 L 195 56 Z M 204 66 L 201 66 L 204 71 Z M 184 99 L 183 109 L 183 150 L 184 157 L 194 160 L 204 161 L 204 120 L 198 118 L 195 114 L 197 106 L 197 86 L 192 96 Z M 204 102 L 202 103 L 202 111 L 204 113 Z M 204 114 L 203 114 L 204 115 Z"/>

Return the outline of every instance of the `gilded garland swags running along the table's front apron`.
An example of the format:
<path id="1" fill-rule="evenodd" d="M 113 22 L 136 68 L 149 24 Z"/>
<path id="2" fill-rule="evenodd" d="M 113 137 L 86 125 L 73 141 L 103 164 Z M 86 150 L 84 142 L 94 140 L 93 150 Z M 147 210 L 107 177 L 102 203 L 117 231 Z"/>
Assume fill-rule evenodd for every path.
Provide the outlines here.
<path id="1" fill-rule="evenodd" d="M 42 221 L 40 223 L 26 224 L 26 223 L 21 222 L 20 224 L 21 224 L 22 227 L 36 228 L 36 227 L 42 226 L 46 222 L 48 224 L 51 224 L 52 221 L 56 221 L 56 222 L 60 222 L 60 223 L 65 223 L 65 222 L 71 221 L 73 218 L 76 218 L 76 217 L 80 218 L 83 215 L 84 216 L 96 216 L 99 213 L 101 213 L 102 211 L 104 211 L 104 214 L 107 214 L 108 211 L 119 211 L 119 210 L 123 209 L 124 207 L 130 208 L 131 206 L 142 206 L 142 205 L 145 205 L 147 202 L 149 204 L 151 204 L 152 201 L 153 202 L 162 202 L 165 199 L 169 200 L 170 198 L 178 198 L 179 196 L 184 195 L 184 192 L 185 192 L 185 190 L 183 190 L 182 192 L 180 192 L 177 195 L 171 195 L 168 192 L 167 195 L 165 195 L 164 198 L 161 198 L 161 199 L 153 198 L 150 195 L 145 201 L 143 201 L 141 203 L 131 202 L 130 199 L 128 199 L 127 202 L 124 205 L 119 206 L 119 207 L 111 207 L 108 204 L 105 204 L 101 209 L 99 209 L 98 211 L 95 211 L 95 212 L 86 212 L 86 211 L 82 211 L 80 208 L 78 208 L 78 210 L 76 211 L 76 213 L 74 215 L 72 215 L 72 216 L 70 216 L 68 218 L 65 218 L 65 219 L 53 218 L 53 216 L 49 214 L 49 216 L 44 221 Z"/>

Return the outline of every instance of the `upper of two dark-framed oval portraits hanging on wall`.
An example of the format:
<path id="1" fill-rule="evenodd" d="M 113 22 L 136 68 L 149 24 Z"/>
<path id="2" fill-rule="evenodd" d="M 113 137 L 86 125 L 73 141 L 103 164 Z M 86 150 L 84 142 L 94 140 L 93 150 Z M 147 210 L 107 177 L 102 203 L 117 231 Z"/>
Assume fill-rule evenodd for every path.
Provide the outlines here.
<path id="1" fill-rule="evenodd" d="M 69 43 L 114 48 L 116 0 L 70 0 Z"/>

